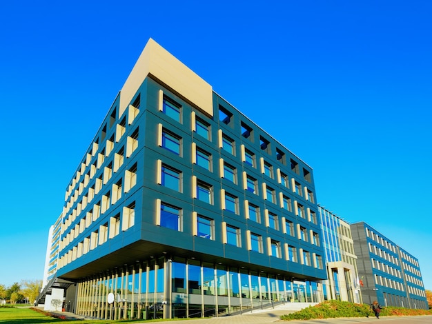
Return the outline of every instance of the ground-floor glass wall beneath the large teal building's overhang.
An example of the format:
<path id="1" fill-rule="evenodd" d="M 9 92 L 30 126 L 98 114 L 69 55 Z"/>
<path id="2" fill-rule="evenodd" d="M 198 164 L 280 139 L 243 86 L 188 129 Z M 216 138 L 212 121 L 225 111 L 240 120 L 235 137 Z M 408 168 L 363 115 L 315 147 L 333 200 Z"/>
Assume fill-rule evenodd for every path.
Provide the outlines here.
<path id="1" fill-rule="evenodd" d="M 320 286 L 237 267 L 162 257 L 81 281 L 76 312 L 100 319 L 222 316 L 280 302 L 319 302 Z"/>

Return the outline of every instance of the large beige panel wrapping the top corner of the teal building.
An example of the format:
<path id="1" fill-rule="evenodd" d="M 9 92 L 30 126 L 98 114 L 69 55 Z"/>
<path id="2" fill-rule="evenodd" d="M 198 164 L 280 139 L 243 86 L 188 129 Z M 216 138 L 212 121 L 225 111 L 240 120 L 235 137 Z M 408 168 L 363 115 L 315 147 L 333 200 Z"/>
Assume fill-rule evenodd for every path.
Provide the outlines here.
<path id="1" fill-rule="evenodd" d="M 197 105 L 197 108 L 213 117 L 213 90 L 211 85 L 206 83 L 206 81 L 153 39 L 148 40 L 128 79 L 126 79 L 123 88 L 121 88 L 119 116 L 126 110 L 148 74 L 175 90 L 181 96 L 188 99 L 188 101 Z"/>

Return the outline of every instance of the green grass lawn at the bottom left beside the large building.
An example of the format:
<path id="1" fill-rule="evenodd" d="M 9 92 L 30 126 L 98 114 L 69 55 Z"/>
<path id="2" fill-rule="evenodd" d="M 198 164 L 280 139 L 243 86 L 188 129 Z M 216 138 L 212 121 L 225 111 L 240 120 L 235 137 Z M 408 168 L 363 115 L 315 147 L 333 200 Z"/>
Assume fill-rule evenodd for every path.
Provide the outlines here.
<path id="1" fill-rule="evenodd" d="M 35 310 L 30 308 L 17 308 L 17 307 L 0 307 L 0 323 L 8 324 L 39 324 L 39 323 L 57 323 L 57 322 L 67 322 L 70 323 L 80 323 L 80 324 L 101 324 L 101 323 L 146 323 L 146 322 L 160 322 L 160 321 L 181 321 L 182 319 L 191 318 L 175 318 L 172 320 L 159 319 L 159 320 L 134 320 L 134 321 L 101 321 L 101 320 L 86 320 L 86 321 L 66 321 L 59 318 L 53 318 L 50 316 L 45 316 Z"/>

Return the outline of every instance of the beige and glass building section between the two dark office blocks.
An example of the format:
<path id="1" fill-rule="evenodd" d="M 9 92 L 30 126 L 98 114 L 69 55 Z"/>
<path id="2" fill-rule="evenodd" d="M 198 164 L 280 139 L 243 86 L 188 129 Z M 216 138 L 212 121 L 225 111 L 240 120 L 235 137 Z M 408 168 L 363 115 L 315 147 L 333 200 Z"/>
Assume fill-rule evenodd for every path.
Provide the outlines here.
<path id="1" fill-rule="evenodd" d="M 357 256 L 350 225 L 318 205 L 328 279 L 323 281 L 324 297 L 362 303 Z"/>

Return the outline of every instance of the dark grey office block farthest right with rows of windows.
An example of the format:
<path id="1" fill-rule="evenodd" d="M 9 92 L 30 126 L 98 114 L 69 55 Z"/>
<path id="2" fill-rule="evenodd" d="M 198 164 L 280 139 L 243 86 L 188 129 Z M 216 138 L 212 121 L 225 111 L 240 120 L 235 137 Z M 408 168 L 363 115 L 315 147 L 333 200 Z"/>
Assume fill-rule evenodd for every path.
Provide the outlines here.
<path id="1" fill-rule="evenodd" d="M 364 222 L 351 232 L 364 303 L 428 310 L 418 260 Z"/>

